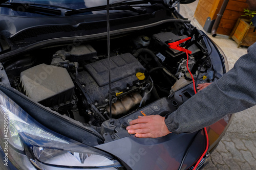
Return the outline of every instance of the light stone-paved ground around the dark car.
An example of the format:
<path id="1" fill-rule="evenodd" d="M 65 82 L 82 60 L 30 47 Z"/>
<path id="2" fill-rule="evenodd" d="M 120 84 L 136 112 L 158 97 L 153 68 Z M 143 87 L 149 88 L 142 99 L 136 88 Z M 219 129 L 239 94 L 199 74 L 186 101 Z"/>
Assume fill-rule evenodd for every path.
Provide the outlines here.
<path id="1" fill-rule="evenodd" d="M 181 14 L 189 18 L 194 26 L 202 30 L 193 17 L 198 0 L 189 5 L 181 5 Z M 211 37 L 210 34 L 208 34 Z M 247 52 L 247 48 L 237 48 L 237 43 L 228 36 L 211 37 L 225 53 L 229 68 Z M 236 113 L 217 149 L 211 154 L 206 170 L 215 169 L 256 169 L 256 107 Z"/>

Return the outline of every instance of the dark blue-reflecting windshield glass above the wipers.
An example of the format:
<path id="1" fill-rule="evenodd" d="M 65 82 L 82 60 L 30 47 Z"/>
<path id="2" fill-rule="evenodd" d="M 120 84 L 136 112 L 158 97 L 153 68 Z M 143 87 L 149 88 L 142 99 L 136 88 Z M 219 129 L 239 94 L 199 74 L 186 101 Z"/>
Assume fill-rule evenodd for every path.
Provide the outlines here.
<path id="1" fill-rule="evenodd" d="M 0 8 L 0 14 L 28 17 L 98 14 L 106 12 L 106 3 L 107 0 L 11 0 L 0 5 L 3 7 Z M 128 5 L 125 6 L 125 4 Z M 111 12 L 118 12 L 118 10 L 136 11 L 133 9 L 148 5 L 151 3 L 145 0 L 110 0 Z"/>

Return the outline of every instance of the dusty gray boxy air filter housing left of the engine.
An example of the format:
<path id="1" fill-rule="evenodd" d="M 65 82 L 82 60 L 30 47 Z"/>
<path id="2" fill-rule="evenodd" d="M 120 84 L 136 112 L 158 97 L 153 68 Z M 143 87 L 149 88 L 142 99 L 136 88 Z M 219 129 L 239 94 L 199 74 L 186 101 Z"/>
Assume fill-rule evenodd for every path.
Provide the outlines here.
<path id="1" fill-rule="evenodd" d="M 29 98 L 47 107 L 70 103 L 75 89 L 66 68 L 46 64 L 23 71 L 20 85 Z"/>

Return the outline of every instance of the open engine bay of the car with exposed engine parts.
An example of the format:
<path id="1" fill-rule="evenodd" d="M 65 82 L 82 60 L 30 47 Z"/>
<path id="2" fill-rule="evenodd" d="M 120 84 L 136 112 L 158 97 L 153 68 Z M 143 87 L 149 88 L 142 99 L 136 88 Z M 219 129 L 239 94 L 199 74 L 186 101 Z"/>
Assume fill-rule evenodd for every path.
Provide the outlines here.
<path id="1" fill-rule="evenodd" d="M 188 61 L 186 53 L 168 47 L 168 43 L 187 37 L 192 39 L 180 46 L 191 51 Z M 110 117 L 120 119 L 147 107 L 160 110 L 153 103 L 177 109 L 194 95 L 186 65 L 197 84 L 217 78 L 206 50 L 209 42 L 203 37 L 195 28 L 173 24 L 113 36 L 111 79 L 106 39 L 77 39 L 72 44 L 40 48 L 3 62 L 8 77 L 5 83 L 34 102 L 93 127 L 101 135 L 112 135 L 117 130 L 105 128 Z M 179 99 L 174 95 L 177 91 L 182 93 Z M 164 113 L 170 112 L 169 108 Z M 119 124 L 123 129 L 127 126 Z"/>

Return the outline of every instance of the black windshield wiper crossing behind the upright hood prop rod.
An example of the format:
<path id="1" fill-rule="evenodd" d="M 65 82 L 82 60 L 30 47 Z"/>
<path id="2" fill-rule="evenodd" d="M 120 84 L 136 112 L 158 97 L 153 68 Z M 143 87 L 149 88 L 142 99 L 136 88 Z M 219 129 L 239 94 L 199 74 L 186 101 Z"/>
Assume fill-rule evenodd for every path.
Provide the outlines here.
<path id="1" fill-rule="evenodd" d="M 121 11 L 125 11 L 125 10 L 130 10 L 133 12 L 138 12 L 138 13 L 145 13 L 145 10 L 139 10 L 139 9 L 135 9 L 133 8 L 131 5 L 139 5 L 139 4 L 146 4 L 146 3 L 160 3 L 162 4 L 163 1 L 162 0 L 147 0 L 147 1 L 128 1 L 128 2 L 122 2 L 122 3 L 113 3 L 111 4 L 110 10 L 121 10 Z M 97 6 L 97 7 L 89 7 L 89 8 L 82 8 L 82 9 L 77 9 L 75 11 L 70 10 L 70 11 L 66 11 L 65 15 L 69 16 L 69 15 L 74 15 L 74 14 L 79 14 L 79 13 L 85 13 L 85 12 L 92 12 L 92 11 L 101 11 L 101 10 L 106 10 L 106 5 L 102 5 L 102 6 Z"/>

